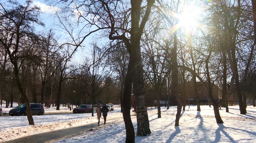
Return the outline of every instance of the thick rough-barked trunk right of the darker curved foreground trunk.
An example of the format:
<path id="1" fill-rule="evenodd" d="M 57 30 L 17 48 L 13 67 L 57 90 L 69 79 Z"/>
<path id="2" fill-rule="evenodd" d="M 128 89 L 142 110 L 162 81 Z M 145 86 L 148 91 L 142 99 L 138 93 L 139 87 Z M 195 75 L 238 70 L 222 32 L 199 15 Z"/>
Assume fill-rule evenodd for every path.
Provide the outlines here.
<path id="1" fill-rule="evenodd" d="M 141 3 L 140 0 L 131 0 L 131 53 L 130 60 L 132 63 L 134 72 L 132 75 L 132 83 L 134 87 L 134 97 L 137 111 L 137 135 L 147 136 L 151 133 L 147 107 L 145 106 L 145 87 L 143 79 L 142 70 L 142 60 L 141 60 L 141 49 L 140 49 L 140 39 L 145 27 L 145 23 L 148 20 L 151 7 L 154 0 L 148 0 L 147 11 L 143 17 L 140 24 L 141 15 Z"/>

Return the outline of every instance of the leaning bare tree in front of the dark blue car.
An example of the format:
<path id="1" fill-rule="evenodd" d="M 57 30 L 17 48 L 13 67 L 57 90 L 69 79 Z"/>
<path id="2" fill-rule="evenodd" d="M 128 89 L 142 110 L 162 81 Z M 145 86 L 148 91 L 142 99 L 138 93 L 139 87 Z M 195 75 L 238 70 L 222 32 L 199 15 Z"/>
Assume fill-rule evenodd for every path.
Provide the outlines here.
<path id="1" fill-rule="evenodd" d="M 19 52 L 22 51 L 23 45 L 20 44 L 22 39 L 30 39 L 35 36 L 33 33 L 33 25 L 39 24 L 43 25 L 42 22 L 39 21 L 40 9 L 36 6 L 31 6 L 32 1 L 26 1 L 25 5 L 21 5 L 16 1 L 10 1 L 10 9 L 6 9 L 6 6 L 0 3 L 1 12 L 0 18 L 1 21 L 8 21 L 11 23 L 10 29 L 6 29 L 6 31 L 11 31 L 8 35 L 5 35 L 5 38 L 1 38 L 0 42 L 6 48 L 8 56 L 10 58 L 10 62 L 13 64 L 14 75 L 17 87 L 22 95 L 27 109 L 27 119 L 29 121 L 29 125 L 35 125 L 33 121 L 33 117 L 30 111 L 29 100 L 24 93 L 23 87 L 20 83 L 19 78 L 19 68 L 18 64 L 20 62 Z M 5 25 L 1 25 L 5 27 Z M 8 41 L 8 42 L 4 42 Z"/>

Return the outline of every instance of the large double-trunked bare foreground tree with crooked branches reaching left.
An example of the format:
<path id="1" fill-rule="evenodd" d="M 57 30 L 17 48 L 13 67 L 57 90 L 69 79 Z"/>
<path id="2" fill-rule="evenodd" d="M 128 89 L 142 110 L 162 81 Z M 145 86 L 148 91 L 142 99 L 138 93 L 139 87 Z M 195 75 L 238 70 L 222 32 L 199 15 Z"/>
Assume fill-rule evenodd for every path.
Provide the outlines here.
<path id="1" fill-rule="evenodd" d="M 127 7 L 129 4 L 128 1 L 120 0 L 81 1 L 81 3 L 77 5 L 77 7 L 72 7 L 72 0 L 65 2 L 67 2 L 68 6 L 63 8 L 63 10 L 65 10 L 65 12 L 69 10 L 72 11 L 72 15 L 78 17 L 79 24 L 81 22 L 84 22 L 84 25 L 82 26 L 83 28 L 96 28 L 93 28 L 95 30 L 87 32 L 87 34 L 85 34 L 85 31 L 79 32 L 79 36 L 82 34 L 83 36 L 78 37 L 78 39 L 81 38 L 81 40 L 79 41 L 79 44 L 77 44 L 77 46 L 80 46 L 85 40 L 85 38 L 88 37 L 88 35 L 91 35 L 93 32 L 104 29 L 109 30 L 105 32 L 105 35 L 108 35 L 108 38 L 110 40 L 119 39 L 125 43 L 125 46 L 130 55 L 129 65 L 131 68 L 131 70 L 128 70 L 131 73 L 127 73 L 127 76 L 129 77 L 127 77 L 126 79 L 132 79 L 132 83 L 134 85 L 136 105 L 138 106 L 137 112 L 140 113 L 137 115 L 137 135 L 146 136 L 150 134 L 151 132 L 149 128 L 147 108 L 145 107 L 145 91 L 142 76 L 143 71 L 141 65 L 140 39 L 145 24 L 150 15 L 152 4 L 155 2 L 155 0 L 148 0 L 147 3 L 142 3 L 142 0 L 131 0 L 130 7 Z M 144 7 L 143 11 L 141 11 L 141 7 Z M 129 25 L 131 25 L 131 28 L 129 27 Z M 69 26 L 70 29 L 73 29 L 72 25 Z M 70 36 L 73 38 L 71 34 Z M 128 90 L 131 89 L 131 82 L 125 85 L 127 85 Z M 128 96 L 129 99 L 129 97 L 131 96 L 131 91 L 124 93 L 124 96 Z M 131 119 L 128 119 L 130 118 L 129 100 L 127 100 L 126 98 L 125 102 L 127 103 L 125 104 L 125 107 L 123 106 L 123 109 L 125 111 L 123 112 L 123 115 L 127 129 L 126 142 L 134 142 L 132 122 Z M 128 130 L 128 127 L 131 130 Z"/>

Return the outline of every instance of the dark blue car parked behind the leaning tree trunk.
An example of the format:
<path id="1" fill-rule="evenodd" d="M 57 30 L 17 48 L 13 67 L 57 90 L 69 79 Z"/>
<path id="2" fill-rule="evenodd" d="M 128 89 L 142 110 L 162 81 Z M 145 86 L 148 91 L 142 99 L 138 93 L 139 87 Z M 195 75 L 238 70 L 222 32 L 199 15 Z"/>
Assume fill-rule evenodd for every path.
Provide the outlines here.
<path id="1" fill-rule="evenodd" d="M 32 115 L 43 115 L 45 114 L 45 108 L 40 103 L 30 103 L 30 111 Z M 20 104 L 16 108 L 9 111 L 10 116 L 26 116 L 26 104 Z"/>

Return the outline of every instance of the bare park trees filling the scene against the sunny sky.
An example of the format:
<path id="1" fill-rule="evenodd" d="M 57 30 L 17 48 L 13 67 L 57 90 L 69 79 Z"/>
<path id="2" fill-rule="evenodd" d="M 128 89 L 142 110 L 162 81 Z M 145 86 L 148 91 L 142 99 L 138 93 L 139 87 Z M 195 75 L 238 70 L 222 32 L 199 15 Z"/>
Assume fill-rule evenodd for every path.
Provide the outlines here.
<path id="1" fill-rule="evenodd" d="M 34 24 L 43 23 L 40 9 L 31 3 L 11 1 L 8 8 L 1 4 L 2 99 L 45 106 L 56 102 L 57 109 L 71 100 L 76 104 L 121 101 L 126 142 L 134 142 L 132 93 L 137 135 L 142 136 L 151 133 L 148 91 L 158 101 L 158 118 L 161 97 L 176 98 L 175 126 L 190 94 L 184 89 L 187 82 L 193 83 L 198 111 L 196 83 L 203 83 L 217 123 L 223 123 L 220 105 L 229 112 L 230 95 L 239 100 L 240 114 L 246 114 L 246 98 L 256 98 L 255 0 L 49 1 L 59 8 L 56 23 L 69 35 L 65 42 L 52 30 L 36 34 Z M 184 27 L 177 15 L 189 6 L 194 6 L 191 13 L 196 7 L 203 11 L 197 15 L 197 26 Z M 93 34 L 101 40 L 91 41 L 91 53 L 82 64 L 74 63 L 75 52 L 88 49 L 85 41 Z M 213 98 L 214 85 L 221 89 L 219 101 Z"/>

